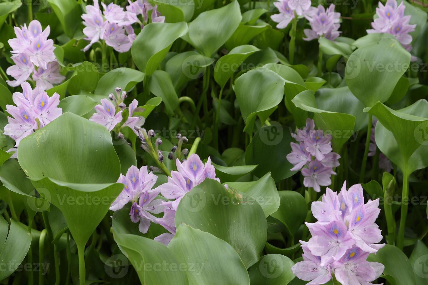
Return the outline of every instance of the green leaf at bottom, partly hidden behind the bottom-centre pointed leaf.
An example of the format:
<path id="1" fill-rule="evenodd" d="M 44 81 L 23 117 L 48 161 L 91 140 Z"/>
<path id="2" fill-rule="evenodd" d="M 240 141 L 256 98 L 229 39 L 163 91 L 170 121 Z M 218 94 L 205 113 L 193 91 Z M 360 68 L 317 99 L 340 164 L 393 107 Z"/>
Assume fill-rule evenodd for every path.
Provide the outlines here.
<path id="1" fill-rule="evenodd" d="M 122 253 L 128 257 L 135 271 L 138 273 L 141 284 L 150 285 L 188 285 L 186 271 L 190 270 L 189 264 L 185 264 L 184 270 L 179 270 L 183 261 L 160 242 L 144 238 L 139 235 L 119 234 L 113 230 L 113 236 Z M 163 270 L 165 262 L 168 263 Z M 175 264 L 175 265 L 172 265 Z M 177 270 L 169 270 L 169 266 L 175 266 Z M 193 267 L 192 267 L 193 268 Z"/>

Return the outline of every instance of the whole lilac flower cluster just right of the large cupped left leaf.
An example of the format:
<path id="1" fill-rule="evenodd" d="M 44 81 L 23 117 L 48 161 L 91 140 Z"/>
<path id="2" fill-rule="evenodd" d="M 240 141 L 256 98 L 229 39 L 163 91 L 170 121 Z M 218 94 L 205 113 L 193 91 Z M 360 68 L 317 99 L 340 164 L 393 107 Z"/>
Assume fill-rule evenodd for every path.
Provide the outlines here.
<path id="1" fill-rule="evenodd" d="M 158 176 L 152 172 L 148 173 L 147 166 L 138 169 L 132 165 L 128 168 L 126 176 L 120 175 L 118 183 L 124 185 L 122 192 L 110 206 L 110 210 L 117 211 L 123 208 L 128 202 L 132 202 L 129 215 L 134 223 L 140 222 L 138 229 L 142 233 L 149 230 L 150 222 L 158 223 L 159 214 L 163 211 L 163 200 L 158 197 L 159 190 L 152 189 Z"/>

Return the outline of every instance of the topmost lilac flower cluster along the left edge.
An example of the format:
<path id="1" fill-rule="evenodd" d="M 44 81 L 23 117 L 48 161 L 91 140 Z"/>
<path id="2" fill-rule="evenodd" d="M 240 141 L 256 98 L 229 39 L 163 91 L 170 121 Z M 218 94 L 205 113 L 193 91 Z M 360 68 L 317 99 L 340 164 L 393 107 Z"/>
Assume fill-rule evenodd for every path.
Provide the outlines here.
<path id="1" fill-rule="evenodd" d="M 12 47 L 12 65 L 6 73 L 15 80 L 6 82 L 13 87 L 21 85 L 30 78 L 36 81 L 36 86 L 47 90 L 52 84 L 61 83 L 65 76 L 59 73 L 59 65 L 53 53 L 55 47 L 53 41 L 48 39 L 51 28 L 42 29 L 39 21 L 33 20 L 30 24 L 24 24 L 21 28 L 15 27 L 16 38 L 8 41 Z"/>

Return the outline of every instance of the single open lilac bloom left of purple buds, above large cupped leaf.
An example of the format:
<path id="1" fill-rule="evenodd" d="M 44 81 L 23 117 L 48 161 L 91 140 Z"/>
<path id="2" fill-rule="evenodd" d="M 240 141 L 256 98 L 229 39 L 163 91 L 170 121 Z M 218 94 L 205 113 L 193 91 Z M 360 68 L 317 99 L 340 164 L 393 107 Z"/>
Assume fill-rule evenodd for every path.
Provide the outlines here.
<path id="1" fill-rule="evenodd" d="M 101 105 L 94 107 L 96 113 L 89 120 L 106 126 L 109 132 L 122 121 L 122 110 L 116 112 L 116 106 L 108 99 L 101 99 Z"/>

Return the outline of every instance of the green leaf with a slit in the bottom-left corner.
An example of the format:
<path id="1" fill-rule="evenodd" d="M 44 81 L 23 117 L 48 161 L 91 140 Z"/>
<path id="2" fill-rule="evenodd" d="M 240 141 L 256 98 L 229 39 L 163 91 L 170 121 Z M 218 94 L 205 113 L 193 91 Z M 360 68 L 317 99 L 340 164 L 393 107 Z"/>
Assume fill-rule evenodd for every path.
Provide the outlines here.
<path id="1" fill-rule="evenodd" d="M 8 227 L 9 224 L 0 216 L 0 263 L 5 265 L 0 270 L 0 280 L 6 279 L 18 268 L 31 245 L 31 234 L 24 226 L 11 219 L 9 234 Z"/>

